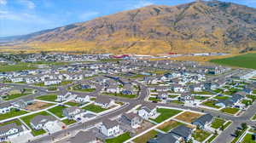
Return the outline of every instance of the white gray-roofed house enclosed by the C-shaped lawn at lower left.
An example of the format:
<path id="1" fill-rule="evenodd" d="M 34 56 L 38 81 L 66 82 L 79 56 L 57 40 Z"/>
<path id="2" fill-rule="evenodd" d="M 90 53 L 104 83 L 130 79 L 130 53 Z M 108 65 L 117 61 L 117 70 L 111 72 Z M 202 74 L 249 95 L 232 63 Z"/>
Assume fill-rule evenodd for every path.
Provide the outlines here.
<path id="1" fill-rule="evenodd" d="M 38 115 L 32 118 L 30 124 L 32 126 L 32 129 L 39 130 L 49 126 L 54 126 L 56 121 L 57 120 L 55 119 L 55 117 Z"/>

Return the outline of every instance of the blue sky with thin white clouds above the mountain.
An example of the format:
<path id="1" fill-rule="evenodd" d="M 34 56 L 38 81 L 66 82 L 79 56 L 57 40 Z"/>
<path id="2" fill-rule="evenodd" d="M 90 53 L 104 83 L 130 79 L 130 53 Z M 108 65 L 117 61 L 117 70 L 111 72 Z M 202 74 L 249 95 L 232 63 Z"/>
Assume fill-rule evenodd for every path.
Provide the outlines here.
<path id="1" fill-rule="evenodd" d="M 0 37 L 92 20 L 152 4 L 177 5 L 195 0 L 0 0 Z M 256 0 L 221 0 L 256 8 Z"/>

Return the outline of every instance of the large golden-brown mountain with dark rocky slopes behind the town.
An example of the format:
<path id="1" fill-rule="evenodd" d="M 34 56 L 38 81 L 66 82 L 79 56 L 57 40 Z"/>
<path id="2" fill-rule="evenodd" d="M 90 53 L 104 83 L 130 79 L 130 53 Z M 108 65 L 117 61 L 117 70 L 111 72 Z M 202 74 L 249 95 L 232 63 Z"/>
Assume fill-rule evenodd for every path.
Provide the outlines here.
<path id="1" fill-rule="evenodd" d="M 256 9 L 216 0 L 151 5 L 38 31 L 8 44 L 0 49 L 90 54 L 245 52 L 256 48 Z"/>

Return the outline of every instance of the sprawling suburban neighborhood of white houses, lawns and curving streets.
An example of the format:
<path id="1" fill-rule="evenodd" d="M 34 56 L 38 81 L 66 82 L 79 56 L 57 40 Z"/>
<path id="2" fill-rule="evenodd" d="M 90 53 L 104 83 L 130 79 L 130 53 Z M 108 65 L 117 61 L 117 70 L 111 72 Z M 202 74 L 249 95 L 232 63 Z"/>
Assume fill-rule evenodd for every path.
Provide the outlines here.
<path id="1" fill-rule="evenodd" d="M 139 55 L 18 55 L 0 56 L 11 68 L 0 72 L 1 142 L 256 140 L 254 70 Z"/>

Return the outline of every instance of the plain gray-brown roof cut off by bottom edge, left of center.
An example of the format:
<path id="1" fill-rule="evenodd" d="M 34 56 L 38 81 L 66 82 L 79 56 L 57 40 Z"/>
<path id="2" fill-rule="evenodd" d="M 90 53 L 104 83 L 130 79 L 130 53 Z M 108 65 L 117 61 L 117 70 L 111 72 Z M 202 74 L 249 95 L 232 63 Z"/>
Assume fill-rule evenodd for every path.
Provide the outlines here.
<path id="1" fill-rule="evenodd" d="M 71 143 L 85 143 L 96 140 L 96 135 L 90 131 L 79 131 L 78 134 L 70 138 L 68 141 Z"/>

